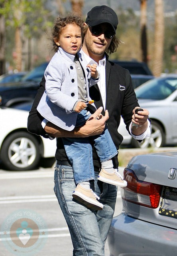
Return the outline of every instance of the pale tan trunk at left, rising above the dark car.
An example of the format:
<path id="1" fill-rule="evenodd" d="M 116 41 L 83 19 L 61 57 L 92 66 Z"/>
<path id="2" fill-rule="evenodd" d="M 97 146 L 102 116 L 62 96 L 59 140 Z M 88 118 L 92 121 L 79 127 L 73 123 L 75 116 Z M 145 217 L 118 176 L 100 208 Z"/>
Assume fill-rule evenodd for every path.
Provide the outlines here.
<path id="1" fill-rule="evenodd" d="M 22 39 L 20 36 L 20 28 L 15 31 L 15 46 L 16 46 L 16 69 L 22 71 Z"/>

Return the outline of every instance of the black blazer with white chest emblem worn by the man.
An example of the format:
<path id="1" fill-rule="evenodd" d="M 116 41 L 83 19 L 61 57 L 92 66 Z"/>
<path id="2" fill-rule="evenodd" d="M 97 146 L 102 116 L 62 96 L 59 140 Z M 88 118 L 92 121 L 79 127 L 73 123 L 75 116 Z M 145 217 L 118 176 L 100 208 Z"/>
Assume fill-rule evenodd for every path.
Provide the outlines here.
<path id="1" fill-rule="evenodd" d="M 39 100 L 45 90 L 45 78 L 43 77 L 33 106 L 28 116 L 28 131 L 37 135 L 48 138 L 41 126 L 42 116 L 37 112 L 36 108 Z M 90 87 L 90 97 L 94 100 L 96 107 L 102 106 L 102 99 L 100 97 L 99 88 L 97 85 Z M 136 94 L 132 85 L 131 76 L 128 70 L 120 67 L 118 64 L 106 60 L 106 109 L 109 112 L 109 119 L 107 122 L 108 130 L 111 134 L 112 140 L 117 149 L 123 140 L 121 134 L 117 129 L 120 124 L 120 117 L 124 119 L 126 128 L 129 132 L 129 125 L 132 120 L 132 110 L 139 106 Z M 90 107 L 90 112 L 94 108 Z M 104 111 L 102 112 L 104 114 Z M 61 138 L 57 138 L 57 150 L 55 154 L 57 160 L 67 160 L 63 142 Z M 93 149 L 93 160 L 95 169 L 100 167 L 98 157 Z M 115 158 L 115 166 L 118 166 L 117 157 Z"/>

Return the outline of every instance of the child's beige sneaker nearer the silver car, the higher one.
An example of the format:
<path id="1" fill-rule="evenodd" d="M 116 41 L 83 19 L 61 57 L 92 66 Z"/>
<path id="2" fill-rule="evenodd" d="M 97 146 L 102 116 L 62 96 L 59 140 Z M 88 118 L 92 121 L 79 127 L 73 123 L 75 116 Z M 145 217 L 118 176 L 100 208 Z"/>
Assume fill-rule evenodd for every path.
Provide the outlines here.
<path id="1" fill-rule="evenodd" d="M 101 180 L 102 182 L 106 182 L 115 186 L 120 186 L 120 187 L 127 186 L 126 180 L 124 180 L 124 178 L 118 172 L 117 169 L 114 169 L 114 172 L 107 172 L 106 170 L 101 169 L 98 175 L 98 180 Z"/>

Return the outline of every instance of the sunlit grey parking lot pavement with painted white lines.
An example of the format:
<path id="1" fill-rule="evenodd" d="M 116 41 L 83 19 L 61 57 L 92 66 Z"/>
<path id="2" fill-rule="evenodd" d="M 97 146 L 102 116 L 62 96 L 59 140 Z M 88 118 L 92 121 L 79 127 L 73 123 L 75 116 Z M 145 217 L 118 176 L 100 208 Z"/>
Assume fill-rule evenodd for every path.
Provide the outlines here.
<path id="1" fill-rule="evenodd" d="M 157 151 L 176 151 L 177 148 L 161 148 Z M 137 154 L 152 153 L 152 150 L 142 151 L 141 149 L 120 149 L 120 162 L 124 160 L 124 166 L 128 163 L 132 156 Z M 120 167 L 122 174 L 124 167 Z M 4 233 L 4 223 L 10 225 L 10 220 L 14 218 L 14 213 L 28 213 L 30 221 L 43 220 L 43 226 L 39 228 L 39 232 L 43 232 L 43 240 L 36 253 L 25 255 L 48 256 L 50 255 L 72 255 L 72 243 L 65 222 L 65 218 L 60 210 L 57 199 L 53 192 L 53 172 L 54 166 L 51 168 L 39 168 L 31 171 L 6 171 L 0 169 L 0 255 L 24 255 L 18 251 L 12 251 L 14 248 L 7 242 L 8 232 Z M 122 201 L 120 197 L 120 188 L 118 189 L 116 209 L 114 216 L 118 215 L 122 210 Z M 32 217 L 31 217 L 32 216 Z M 36 217 L 37 216 L 37 217 Z M 32 219 L 31 219 L 32 218 Z M 8 223 L 9 221 L 9 223 Z M 30 222 L 30 223 L 31 223 Z M 22 224 L 22 223 L 21 223 Z M 7 228 L 8 228 L 8 225 Z M 23 230 L 22 230 L 23 231 Z M 23 231 L 24 232 L 24 231 Z M 9 230 L 10 234 L 10 230 Z M 26 234 L 22 233 L 22 236 Z M 8 241 L 12 240 L 8 238 Z M 17 239 L 17 238 L 16 238 Z M 19 241 L 18 241 L 19 242 Z M 22 241 L 21 241 L 22 242 Z M 22 246 L 21 244 L 18 244 Z M 30 247 L 28 248 L 30 251 Z M 105 256 L 109 256 L 108 244 L 105 245 Z"/>

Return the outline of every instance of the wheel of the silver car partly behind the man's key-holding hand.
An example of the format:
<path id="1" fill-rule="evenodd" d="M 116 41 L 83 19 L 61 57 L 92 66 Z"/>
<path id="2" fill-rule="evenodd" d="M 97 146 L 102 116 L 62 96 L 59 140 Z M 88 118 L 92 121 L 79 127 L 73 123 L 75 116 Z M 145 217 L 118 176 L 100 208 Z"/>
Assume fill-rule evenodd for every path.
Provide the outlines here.
<path id="1" fill-rule="evenodd" d="M 151 121 L 151 136 L 138 142 L 132 139 L 133 148 L 160 148 L 165 144 L 165 133 L 163 128 L 155 121 Z"/>

